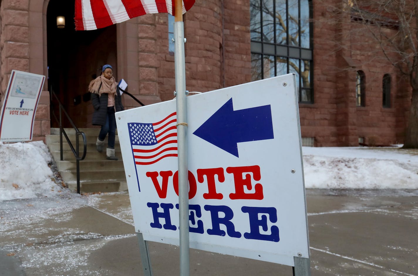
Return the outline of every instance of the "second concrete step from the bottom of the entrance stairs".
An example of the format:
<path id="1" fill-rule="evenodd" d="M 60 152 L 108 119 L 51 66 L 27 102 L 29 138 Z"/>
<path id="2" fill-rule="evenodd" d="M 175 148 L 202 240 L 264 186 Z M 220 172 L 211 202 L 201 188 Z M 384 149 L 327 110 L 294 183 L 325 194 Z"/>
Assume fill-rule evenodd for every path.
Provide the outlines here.
<path id="1" fill-rule="evenodd" d="M 77 174 L 76 170 L 74 171 L 61 171 L 61 177 L 64 182 L 76 182 Z M 84 171 L 80 168 L 80 181 L 98 181 L 98 180 L 108 180 L 108 181 L 126 181 L 125 170 L 96 170 L 96 171 Z"/>

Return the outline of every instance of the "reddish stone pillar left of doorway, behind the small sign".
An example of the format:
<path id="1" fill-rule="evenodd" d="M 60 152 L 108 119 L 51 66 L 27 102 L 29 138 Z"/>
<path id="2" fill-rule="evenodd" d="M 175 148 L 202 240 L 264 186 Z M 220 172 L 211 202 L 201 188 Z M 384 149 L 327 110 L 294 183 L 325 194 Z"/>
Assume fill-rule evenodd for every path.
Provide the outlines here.
<path id="1" fill-rule="evenodd" d="M 31 14 L 29 0 L 5 0 L 2 1 L 0 16 L 0 93 L 3 100 L 12 70 L 43 73 L 42 14 Z M 45 135 L 49 133 L 49 92 L 42 91 L 35 114 L 32 140 L 45 142 Z"/>

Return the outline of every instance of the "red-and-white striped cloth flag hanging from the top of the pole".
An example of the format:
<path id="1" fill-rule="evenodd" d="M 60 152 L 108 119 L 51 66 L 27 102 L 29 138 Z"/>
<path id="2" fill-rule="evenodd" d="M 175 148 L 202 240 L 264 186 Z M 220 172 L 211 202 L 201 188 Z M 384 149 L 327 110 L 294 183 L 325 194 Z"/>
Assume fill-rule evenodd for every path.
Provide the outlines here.
<path id="1" fill-rule="evenodd" d="M 76 30 L 104 28 L 146 13 L 174 15 L 175 0 L 76 0 Z M 183 0 L 183 14 L 195 0 Z"/>

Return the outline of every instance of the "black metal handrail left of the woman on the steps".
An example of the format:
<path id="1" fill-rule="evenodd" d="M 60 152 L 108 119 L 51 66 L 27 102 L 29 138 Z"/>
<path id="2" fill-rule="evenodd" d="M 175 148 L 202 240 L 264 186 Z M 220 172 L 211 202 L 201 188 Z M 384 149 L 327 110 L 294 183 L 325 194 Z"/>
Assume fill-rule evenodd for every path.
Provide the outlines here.
<path id="1" fill-rule="evenodd" d="M 64 109 L 64 106 L 61 104 L 61 101 L 59 101 L 58 97 L 56 96 L 54 90 L 51 88 L 51 104 L 52 104 L 52 95 L 54 95 L 55 99 L 58 101 L 59 104 L 59 119 L 56 117 L 54 112 L 51 112 L 51 114 L 54 116 L 55 120 L 59 123 L 59 147 L 60 147 L 60 157 L 61 161 L 63 160 L 63 149 L 62 149 L 62 134 L 64 134 L 65 139 L 67 140 L 71 151 L 73 152 L 74 156 L 76 157 L 76 173 L 77 173 L 77 193 L 80 193 L 80 160 L 84 160 L 87 153 L 87 138 L 86 134 L 84 132 L 79 131 L 79 129 L 75 126 L 74 122 L 71 120 L 70 116 L 68 115 L 67 111 Z M 70 139 L 68 138 L 68 135 L 66 134 L 64 128 L 62 127 L 62 112 L 64 112 L 65 116 L 69 120 L 71 126 L 74 128 L 76 132 L 76 148 L 74 149 L 73 144 L 71 143 Z M 80 157 L 80 150 L 79 150 L 79 136 L 82 136 L 83 138 L 83 156 Z"/>

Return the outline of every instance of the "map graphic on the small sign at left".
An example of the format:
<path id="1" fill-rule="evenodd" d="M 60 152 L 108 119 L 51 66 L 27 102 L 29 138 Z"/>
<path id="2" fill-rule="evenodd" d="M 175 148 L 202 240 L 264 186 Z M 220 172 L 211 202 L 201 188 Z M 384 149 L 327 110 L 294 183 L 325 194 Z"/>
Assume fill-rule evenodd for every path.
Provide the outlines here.
<path id="1" fill-rule="evenodd" d="M 10 96 L 35 99 L 38 96 L 39 83 L 37 76 L 16 73 Z"/>

